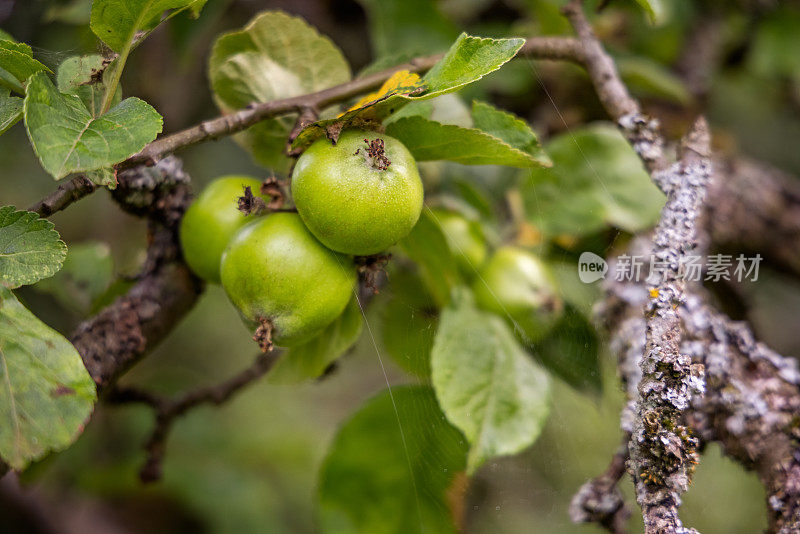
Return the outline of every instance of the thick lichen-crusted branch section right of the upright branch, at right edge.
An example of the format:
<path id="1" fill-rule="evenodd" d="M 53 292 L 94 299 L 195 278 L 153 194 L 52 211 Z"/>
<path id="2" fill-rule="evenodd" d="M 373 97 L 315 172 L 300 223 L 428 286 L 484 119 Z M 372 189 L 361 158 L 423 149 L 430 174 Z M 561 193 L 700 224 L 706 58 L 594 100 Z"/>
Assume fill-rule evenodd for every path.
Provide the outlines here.
<path id="1" fill-rule="evenodd" d="M 769 532 L 800 532 L 800 372 L 692 296 L 681 310 L 684 352 L 706 368 L 708 393 L 694 399 L 687 422 L 704 442 L 758 473 L 767 492 Z"/>

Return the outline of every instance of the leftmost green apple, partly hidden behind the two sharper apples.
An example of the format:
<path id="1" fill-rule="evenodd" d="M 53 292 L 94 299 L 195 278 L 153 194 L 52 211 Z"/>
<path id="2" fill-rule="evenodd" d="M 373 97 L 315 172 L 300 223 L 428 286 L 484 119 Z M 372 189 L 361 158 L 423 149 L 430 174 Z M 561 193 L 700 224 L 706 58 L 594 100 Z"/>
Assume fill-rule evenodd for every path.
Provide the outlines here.
<path id="1" fill-rule="evenodd" d="M 222 251 L 236 230 L 254 219 L 237 206 L 245 186 L 258 195 L 261 181 L 250 176 L 217 178 L 192 202 L 181 221 L 183 258 L 197 276 L 208 282 L 219 283 Z"/>

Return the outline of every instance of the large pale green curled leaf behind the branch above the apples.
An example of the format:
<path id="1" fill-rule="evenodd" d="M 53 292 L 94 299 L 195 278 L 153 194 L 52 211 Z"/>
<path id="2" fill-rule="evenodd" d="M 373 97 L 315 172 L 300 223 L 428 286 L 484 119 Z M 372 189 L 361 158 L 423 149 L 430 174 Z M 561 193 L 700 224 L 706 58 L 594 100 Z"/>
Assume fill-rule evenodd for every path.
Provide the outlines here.
<path id="1" fill-rule="evenodd" d="M 320 91 L 350 79 L 341 51 L 304 20 L 280 11 L 256 16 L 214 43 L 209 79 L 223 112 Z M 270 119 L 237 140 L 265 165 L 286 165 L 284 146 L 295 117 Z"/>

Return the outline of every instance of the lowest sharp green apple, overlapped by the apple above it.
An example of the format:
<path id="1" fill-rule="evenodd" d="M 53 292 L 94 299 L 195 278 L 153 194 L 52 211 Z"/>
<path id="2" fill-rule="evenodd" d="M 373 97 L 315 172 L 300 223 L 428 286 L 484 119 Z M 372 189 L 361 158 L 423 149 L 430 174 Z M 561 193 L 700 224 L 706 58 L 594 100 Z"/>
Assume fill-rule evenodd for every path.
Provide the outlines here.
<path id="1" fill-rule="evenodd" d="M 222 255 L 222 287 L 251 323 L 267 321 L 288 347 L 344 311 L 356 283 L 350 257 L 325 248 L 294 213 L 260 217 L 234 234 Z"/>

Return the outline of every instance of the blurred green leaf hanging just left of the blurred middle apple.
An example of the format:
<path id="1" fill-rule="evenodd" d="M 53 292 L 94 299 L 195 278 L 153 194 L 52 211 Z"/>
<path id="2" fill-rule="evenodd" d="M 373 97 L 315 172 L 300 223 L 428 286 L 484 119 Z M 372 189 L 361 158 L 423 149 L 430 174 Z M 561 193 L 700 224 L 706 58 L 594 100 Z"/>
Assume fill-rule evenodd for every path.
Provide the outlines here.
<path id="1" fill-rule="evenodd" d="M 418 265 L 420 276 L 436 303 L 447 304 L 450 290 L 460 281 L 460 275 L 447 238 L 427 209 L 422 211 L 411 233 L 398 244 Z"/>

